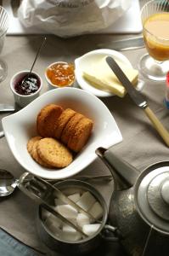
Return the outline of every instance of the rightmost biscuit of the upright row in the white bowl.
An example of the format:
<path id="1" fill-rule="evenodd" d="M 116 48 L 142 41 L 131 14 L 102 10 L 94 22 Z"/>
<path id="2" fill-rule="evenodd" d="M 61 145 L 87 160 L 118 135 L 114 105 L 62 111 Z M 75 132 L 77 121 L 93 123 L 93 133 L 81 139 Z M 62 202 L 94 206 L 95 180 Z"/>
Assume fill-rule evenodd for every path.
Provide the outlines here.
<path id="1" fill-rule="evenodd" d="M 93 121 L 91 119 L 83 118 L 77 123 L 75 133 L 68 142 L 68 148 L 75 152 L 79 152 L 87 143 L 93 129 Z"/>

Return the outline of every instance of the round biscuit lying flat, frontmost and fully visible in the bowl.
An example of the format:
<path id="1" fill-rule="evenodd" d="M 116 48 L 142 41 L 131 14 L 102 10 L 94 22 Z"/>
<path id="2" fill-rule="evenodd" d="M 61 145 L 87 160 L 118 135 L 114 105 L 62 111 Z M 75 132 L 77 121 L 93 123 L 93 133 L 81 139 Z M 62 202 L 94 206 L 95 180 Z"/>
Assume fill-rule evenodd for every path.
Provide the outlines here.
<path id="1" fill-rule="evenodd" d="M 68 166 L 72 161 L 70 150 L 51 137 L 45 137 L 39 141 L 37 153 L 48 165 L 58 168 Z"/>

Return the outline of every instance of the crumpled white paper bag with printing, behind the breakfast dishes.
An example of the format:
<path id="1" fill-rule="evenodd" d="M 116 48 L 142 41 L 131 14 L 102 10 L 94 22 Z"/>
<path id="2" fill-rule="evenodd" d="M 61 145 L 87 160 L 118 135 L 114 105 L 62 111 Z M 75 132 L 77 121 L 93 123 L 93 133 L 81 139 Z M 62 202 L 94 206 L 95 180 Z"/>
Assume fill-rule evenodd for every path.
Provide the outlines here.
<path id="1" fill-rule="evenodd" d="M 67 38 L 110 26 L 132 0 L 23 0 L 18 16 L 26 27 Z"/>

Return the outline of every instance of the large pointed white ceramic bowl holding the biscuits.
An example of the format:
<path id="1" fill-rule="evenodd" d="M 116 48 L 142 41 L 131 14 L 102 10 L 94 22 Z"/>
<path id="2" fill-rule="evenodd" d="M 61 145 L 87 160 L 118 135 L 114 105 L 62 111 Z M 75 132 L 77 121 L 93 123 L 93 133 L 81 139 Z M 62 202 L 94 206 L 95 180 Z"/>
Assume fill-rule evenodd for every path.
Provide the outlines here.
<path id="1" fill-rule="evenodd" d="M 37 136 L 37 113 L 49 103 L 59 104 L 63 108 L 73 108 L 94 122 L 92 135 L 85 147 L 76 154 L 69 166 L 62 169 L 51 170 L 38 165 L 26 149 L 28 140 Z M 122 140 L 115 119 L 104 103 L 86 90 L 69 87 L 49 90 L 19 112 L 3 118 L 2 124 L 8 146 L 20 165 L 34 175 L 48 179 L 70 177 L 81 172 L 96 159 L 96 148 L 110 148 Z"/>

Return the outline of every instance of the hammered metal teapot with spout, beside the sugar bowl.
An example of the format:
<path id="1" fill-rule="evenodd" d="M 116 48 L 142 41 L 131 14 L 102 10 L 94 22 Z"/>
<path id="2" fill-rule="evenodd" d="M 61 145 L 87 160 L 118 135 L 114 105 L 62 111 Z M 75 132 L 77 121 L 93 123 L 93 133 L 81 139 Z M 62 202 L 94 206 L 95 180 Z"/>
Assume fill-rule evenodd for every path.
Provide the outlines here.
<path id="1" fill-rule="evenodd" d="M 110 150 L 96 154 L 115 178 L 110 224 L 121 234 L 121 245 L 132 256 L 169 255 L 169 161 L 138 172 Z"/>

